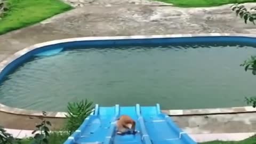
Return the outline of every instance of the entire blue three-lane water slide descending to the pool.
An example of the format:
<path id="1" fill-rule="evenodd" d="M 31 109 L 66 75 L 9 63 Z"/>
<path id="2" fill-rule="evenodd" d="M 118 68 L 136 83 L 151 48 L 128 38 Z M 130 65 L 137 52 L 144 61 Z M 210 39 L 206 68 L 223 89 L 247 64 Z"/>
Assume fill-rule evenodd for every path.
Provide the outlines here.
<path id="1" fill-rule="evenodd" d="M 136 122 L 135 134 L 116 134 L 115 122 L 121 115 L 129 115 Z M 99 107 L 67 139 L 64 144 L 195 144 L 188 134 L 183 132 L 163 114 L 157 104 L 154 107 Z"/>

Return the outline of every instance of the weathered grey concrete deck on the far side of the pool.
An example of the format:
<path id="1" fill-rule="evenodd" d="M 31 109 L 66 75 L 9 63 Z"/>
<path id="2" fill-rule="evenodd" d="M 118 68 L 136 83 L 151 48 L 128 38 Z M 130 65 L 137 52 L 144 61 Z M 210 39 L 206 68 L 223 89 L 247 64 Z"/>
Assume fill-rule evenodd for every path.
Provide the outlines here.
<path id="1" fill-rule="evenodd" d="M 252 5 L 252 4 L 247 4 Z M 85 5 L 0 36 L 0 60 L 29 45 L 84 36 L 255 33 L 229 5 L 185 9 L 142 4 Z"/>

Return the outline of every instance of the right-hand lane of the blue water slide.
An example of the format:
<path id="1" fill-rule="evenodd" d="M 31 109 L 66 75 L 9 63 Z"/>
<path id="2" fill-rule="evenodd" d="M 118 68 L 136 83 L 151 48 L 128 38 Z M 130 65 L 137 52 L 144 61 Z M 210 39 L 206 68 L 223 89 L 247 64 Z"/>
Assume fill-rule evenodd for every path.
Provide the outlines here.
<path id="1" fill-rule="evenodd" d="M 183 132 L 171 119 L 156 107 L 141 107 L 145 127 L 149 138 L 154 144 L 196 144 L 187 133 Z"/>

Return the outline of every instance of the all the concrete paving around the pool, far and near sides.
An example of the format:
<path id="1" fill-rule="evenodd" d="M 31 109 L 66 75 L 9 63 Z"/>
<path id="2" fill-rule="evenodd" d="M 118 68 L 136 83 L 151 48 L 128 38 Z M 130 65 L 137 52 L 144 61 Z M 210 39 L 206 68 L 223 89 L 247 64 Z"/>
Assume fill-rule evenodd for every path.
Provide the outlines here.
<path id="1" fill-rule="evenodd" d="M 118 1 L 120 2 L 120 1 Z M 29 45 L 54 39 L 84 36 L 163 35 L 198 33 L 256 32 L 252 23 L 236 18 L 229 5 L 184 9 L 156 6 L 155 3 L 93 1 L 56 15 L 37 25 L 0 36 L 0 61 Z M 246 4 L 252 6 L 256 4 Z M 0 112 L 0 125 L 10 129 L 34 129 L 37 118 Z M 211 116 L 175 116 L 174 120 L 188 133 L 254 132 L 256 115 L 228 114 Z M 60 129 L 63 119 L 49 119 Z"/>

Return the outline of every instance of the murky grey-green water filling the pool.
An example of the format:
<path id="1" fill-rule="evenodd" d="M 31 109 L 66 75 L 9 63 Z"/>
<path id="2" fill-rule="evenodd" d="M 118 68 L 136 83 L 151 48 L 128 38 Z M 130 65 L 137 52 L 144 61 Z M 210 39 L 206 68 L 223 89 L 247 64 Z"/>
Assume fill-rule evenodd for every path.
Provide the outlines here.
<path id="1" fill-rule="evenodd" d="M 244 106 L 256 81 L 239 65 L 255 52 L 241 45 L 69 49 L 13 71 L 0 87 L 0 102 L 51 111 L 82 99 L 162 109 Z"/>

